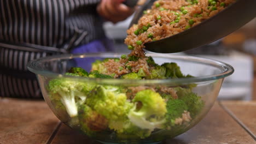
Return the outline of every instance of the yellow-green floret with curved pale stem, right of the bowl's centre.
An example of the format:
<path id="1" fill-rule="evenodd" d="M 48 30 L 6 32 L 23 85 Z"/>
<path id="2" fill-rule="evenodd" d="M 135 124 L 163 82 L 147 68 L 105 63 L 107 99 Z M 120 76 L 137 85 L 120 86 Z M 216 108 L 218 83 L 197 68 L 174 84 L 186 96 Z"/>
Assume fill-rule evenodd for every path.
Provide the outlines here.
<path id="1" fill-rule="evenodd" d="M 130 110 L 128 117 L 133 124 L 150 131 L 163 127 L 167 110 L 166 103 L 159 93 L 146 89 L 136 93 L 132 101 L 135 106 Z"/>

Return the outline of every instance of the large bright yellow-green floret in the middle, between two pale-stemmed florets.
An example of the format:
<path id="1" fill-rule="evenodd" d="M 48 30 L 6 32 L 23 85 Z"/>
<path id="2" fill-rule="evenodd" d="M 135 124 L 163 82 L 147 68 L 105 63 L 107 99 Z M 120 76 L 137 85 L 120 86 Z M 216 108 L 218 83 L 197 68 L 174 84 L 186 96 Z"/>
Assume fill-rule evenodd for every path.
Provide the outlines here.
<path id="1" fill-rule="evenodd" d="M 127 113 L 133 106 L 127 101 L 126 94 L 120 93 L 120 88 L 115 86 L 97 86 L 86 99 L 86 104 L 106 117 L 109 129 L 122 133 L 127 127 Z"/>

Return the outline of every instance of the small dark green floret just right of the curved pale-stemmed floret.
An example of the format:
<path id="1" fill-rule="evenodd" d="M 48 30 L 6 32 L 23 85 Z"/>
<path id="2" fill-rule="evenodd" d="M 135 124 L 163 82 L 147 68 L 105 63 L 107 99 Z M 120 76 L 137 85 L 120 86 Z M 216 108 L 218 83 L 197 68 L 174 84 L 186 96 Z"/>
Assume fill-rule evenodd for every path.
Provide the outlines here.
<path id="1" fill-rule="evenodd" d="M 178 117 L 182 117 L 182 113 L 188 110 L 188 106 L 180 99 L 170 99 L 166 104 L 166 123 L 173 126 L 174 120 Z"/>

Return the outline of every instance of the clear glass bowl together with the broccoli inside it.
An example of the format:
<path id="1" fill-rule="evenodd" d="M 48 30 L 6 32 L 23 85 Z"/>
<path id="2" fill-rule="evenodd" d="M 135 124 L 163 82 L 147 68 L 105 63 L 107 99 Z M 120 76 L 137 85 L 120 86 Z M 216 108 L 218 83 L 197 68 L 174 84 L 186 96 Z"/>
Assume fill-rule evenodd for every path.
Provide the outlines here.
<path id="1" fill-rule="evenodd" d="M 211 59 L 148 53 L 153 70 L 165 68 L 165 78 L 150 79 L 139 71 L 114 78 L 99 72 L 108 57 L 120 61 L 122 56 L 84 53 L 28 63 L 56 117 L 103 143 L 157 143 L 184 133 L 211 109 L 224 77 L 234 72 L 230 65 Z M 85 67 L 86 73 L 75 59 L 86 64 L 101 61 L 92 63 L 97 70 Z M 154 73 L 163 76 L 161 71 Z"/>

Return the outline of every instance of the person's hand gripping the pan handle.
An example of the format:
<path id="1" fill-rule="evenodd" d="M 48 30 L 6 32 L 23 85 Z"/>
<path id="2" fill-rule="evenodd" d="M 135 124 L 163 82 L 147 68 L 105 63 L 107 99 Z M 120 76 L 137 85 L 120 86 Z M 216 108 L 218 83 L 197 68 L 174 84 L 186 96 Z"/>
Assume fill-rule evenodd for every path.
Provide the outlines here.
<path id="1" fill-rule="evenodd" d="M 104 17 L 104 19 L 113 23 L 123 21 L 134 11 L 133 8 L 124 5 L 122 3 L 123 1 L 124 0 L 102 0 L 101 3 L 97 5 L 97 12 Z"/>

